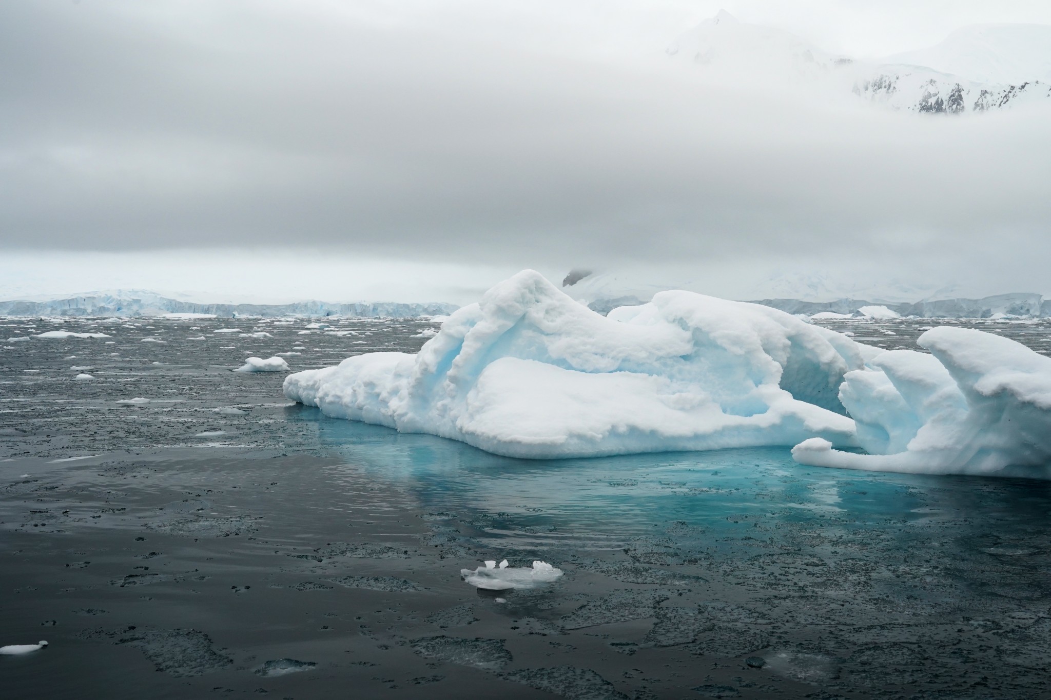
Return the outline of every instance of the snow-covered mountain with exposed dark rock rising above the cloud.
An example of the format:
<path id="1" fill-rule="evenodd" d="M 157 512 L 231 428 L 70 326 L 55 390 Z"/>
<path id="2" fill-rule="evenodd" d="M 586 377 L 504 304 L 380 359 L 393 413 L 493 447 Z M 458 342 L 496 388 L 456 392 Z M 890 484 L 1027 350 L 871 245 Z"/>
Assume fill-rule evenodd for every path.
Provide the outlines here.
<path id="1" fill-rule="evenodd" d="M 974 25 L 935 46 L 854 60 L 720 10 L 666 52 L 715 81 L 781 88 L 805 84 L 919 113 L 1051 105 L 1051 26 L 1038 24 Z"/>

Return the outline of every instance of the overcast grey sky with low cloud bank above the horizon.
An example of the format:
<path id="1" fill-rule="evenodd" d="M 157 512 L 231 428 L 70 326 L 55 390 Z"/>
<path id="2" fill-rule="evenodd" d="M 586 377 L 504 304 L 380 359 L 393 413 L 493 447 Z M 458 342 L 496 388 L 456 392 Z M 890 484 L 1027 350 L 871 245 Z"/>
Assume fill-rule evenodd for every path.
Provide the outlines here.
<path id="1" fill-rule="evenodd" d="M 0 295 L 463 302 L 664 264 L 739 297 L 774 268 L 1051 293 L 1047 111 L 708 85 L 663 48 L 720 6 L 862 57 L 1051 24 L 1046 0 L 0 3 Z"/>

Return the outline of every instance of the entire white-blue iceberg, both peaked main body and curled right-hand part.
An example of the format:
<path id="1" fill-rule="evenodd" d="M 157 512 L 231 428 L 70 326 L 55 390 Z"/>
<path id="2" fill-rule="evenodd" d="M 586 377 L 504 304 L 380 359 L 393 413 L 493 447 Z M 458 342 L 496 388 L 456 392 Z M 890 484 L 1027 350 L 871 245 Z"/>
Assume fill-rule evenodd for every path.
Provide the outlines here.
<path id="1" fill-rule="evenodd" d="M 523 271 L 417 355 L 351 357 L 284 388 L 332 417 L 508 457 L 796 445 L 813 466 L 1044 475 L 1051 358 L 966 328 L 919 343 L 929 354 L 883 351 L 682 291 L 603 317 Z"/>

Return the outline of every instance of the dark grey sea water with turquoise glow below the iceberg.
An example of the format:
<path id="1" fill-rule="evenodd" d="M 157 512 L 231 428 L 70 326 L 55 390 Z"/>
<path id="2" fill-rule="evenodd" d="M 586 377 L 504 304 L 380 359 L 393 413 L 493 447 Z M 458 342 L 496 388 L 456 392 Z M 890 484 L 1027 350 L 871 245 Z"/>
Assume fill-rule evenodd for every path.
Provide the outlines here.
<path id="1" fill-rule="evenodd" d="M 1047 483 L 508 460 L 230 372 L 411 352 L 425 322 L 6 323 L 111 338 L 0 356 L 0 644 L 50 642 L 0 657 L 4 697 L 1051 697 Z M 1045 349 L 1039 325 L 982 327 Z M 502 602 L 460 580 L 503 557 L 565 576 Z"/>

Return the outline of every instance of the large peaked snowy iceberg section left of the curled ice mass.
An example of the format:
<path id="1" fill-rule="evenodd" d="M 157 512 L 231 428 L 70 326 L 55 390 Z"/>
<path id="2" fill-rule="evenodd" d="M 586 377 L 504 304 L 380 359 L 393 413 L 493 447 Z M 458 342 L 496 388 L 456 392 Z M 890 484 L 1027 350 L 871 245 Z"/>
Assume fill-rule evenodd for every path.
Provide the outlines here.
<path id="1" fill-rule="evenodd" d="M 326 415 L 518 458 L 854 446 L 837 396 L 879 353 L 784 312 L 661 292 L 603 317 L 523 271 L 418 355 L 371 353 L 285 380 Z"/>

